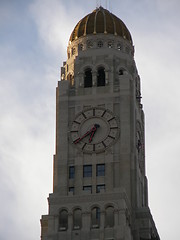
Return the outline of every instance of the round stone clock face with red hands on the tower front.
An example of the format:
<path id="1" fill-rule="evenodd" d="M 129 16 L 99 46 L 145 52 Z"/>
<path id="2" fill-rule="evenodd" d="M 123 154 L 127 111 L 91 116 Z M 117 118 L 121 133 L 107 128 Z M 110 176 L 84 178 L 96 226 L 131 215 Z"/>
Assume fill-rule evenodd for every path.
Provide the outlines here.
<path id="1" fill-rule="evenodd" d="M 119 136 L 117 117 L 104 108 L 90 108 L 80 112 L 71 125 L 73 145 L 83 152 L 103 152 Z"/>

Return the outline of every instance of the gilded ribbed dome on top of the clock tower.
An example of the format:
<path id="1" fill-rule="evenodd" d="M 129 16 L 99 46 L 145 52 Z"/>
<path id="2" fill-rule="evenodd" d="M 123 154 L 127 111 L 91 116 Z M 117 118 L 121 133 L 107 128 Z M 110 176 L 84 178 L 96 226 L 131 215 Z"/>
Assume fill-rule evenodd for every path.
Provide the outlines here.
<path id="1" fill-rule="evenodd" d="M 123 21 L 103 7 L 82 18 L 72 31 L 69 40 L 72 42 L 79 37 L 98 33 L 117 35 L 132 44 L 131 34 Z"/>

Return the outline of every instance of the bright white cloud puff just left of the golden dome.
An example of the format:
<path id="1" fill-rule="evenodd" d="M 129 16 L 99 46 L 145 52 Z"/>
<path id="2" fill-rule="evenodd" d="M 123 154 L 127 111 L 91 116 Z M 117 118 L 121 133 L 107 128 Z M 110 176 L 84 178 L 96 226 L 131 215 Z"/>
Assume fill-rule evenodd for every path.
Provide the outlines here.
<path id="1" fill-rule="evenodd" d="M 73 18 L 72 15 L 73 9 Z M 73 4 L 71 9 L 68 9 L 65 4 L 60 1 L 41 0 L 35 1 L 31 7 L 33 19 L 37 24 L 39 36 L 46 47 L 56 54 L 64 52 L 67 47 L 67 36 L 79 21 L 79 14 L 82 14 L 81 8 Z"/>

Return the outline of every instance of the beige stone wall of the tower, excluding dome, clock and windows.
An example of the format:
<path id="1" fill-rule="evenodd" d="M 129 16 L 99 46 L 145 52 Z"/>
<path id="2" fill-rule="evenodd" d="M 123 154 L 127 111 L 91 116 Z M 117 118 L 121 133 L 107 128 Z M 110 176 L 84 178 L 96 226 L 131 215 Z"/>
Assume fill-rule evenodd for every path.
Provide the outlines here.
<path id="1" fill-rule="evenodd" d="M 99 40 L 103 41 L 101 48 Z M 134 48 L 121 37 L 99 34 L 73 41 L 67 52 L 57 87 L 54 183 L 48 199 L 49 213 L 41 219 L 42 240 L 139 240 L 158 236 L 148 208 L 144 113 Z M 105 86 L 97 87 L 100 66 L 105 69 Z M 90 88 L 84 87 L 87 67 L 92 70 Z M 93 107 L 107 109 L 116 116 L 119 137 L 104 152 L 89 154 L 72 143 L 70 129 L 77 114 Z M 105 165 L 104 176 L 96 175 L 97 164 Z M 92 165 L 91 177 L 83 177 L 84 165 Z M 72 179 L 70 166 L 75 167 Z M 105 189 L 97 193 L 100 184 Z M 84 191 L 84 186 L 91 186 L 92 191 Z M 111 227 L 106 226 L 107 207 L 113 209 Z M 94 208 L 100 211 L 97 227 L 92 226 Z M 82 225 L 74 227 L 77 209 Z M 63 223 L 60 226 L 62 210 L 65 227 Z"/>

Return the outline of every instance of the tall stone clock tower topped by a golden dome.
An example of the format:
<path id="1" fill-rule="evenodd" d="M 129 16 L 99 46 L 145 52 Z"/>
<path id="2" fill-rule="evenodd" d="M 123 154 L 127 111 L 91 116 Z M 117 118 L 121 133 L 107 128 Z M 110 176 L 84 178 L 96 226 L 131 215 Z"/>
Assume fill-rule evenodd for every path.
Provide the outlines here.
<path id="1" fill-rule="evenodd" d="M 144 113 L 132 37 L 99 7 L 69 39 L 42 240 L 160 240 L 148 206 Z"/>

